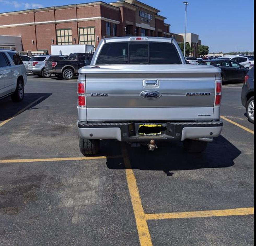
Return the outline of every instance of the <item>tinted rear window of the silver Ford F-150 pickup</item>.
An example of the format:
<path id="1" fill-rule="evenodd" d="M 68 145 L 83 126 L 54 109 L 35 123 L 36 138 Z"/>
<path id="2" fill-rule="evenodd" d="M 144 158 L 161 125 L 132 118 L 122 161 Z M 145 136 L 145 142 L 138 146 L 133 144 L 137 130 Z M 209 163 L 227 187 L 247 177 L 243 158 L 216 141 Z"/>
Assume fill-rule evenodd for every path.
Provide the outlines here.
<path id="1" fill-rule="evenodd" d="M 172 43 L 120 42 L 104 44 L 96 64 L 181 64 Z"/>

